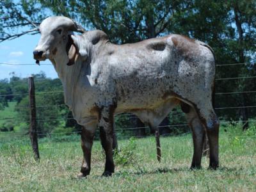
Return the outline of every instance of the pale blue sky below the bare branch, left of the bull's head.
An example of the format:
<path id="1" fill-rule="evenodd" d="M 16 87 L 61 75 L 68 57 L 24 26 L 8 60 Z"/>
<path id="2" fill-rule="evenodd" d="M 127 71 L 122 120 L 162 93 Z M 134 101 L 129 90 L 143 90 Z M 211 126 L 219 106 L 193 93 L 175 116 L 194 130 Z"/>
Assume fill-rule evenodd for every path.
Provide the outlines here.
<path id="1" fill-rule="evenodd" d="M 14 40 L 6 40 L 0 43 L 0 79 L 10 78 L 11 72 L 15 72 L 20 77 L 29 77 L 31 74 L 44 71 L 47 77 L 58 77 L 52 65 L 36 65 L 33 59 L 33 49 L 35 49 L 39 39 L 40 34 L 24 35 Z M 3 65 L 1 63 L 29 63 L 35 65 Z M 40 64 L 42 63 L 50 64 L 51 61 L 40 61 Z"/>

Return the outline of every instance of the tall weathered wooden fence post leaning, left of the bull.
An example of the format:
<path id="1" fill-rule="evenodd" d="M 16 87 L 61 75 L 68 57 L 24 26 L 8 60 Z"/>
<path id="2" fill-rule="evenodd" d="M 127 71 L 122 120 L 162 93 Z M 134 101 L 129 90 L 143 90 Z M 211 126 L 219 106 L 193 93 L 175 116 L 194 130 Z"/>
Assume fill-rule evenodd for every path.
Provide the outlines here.
<path id="1" fill-rule="evenodd" d="M 34 159 L 39 160 L 39 150 L 36 133 L 36 99 L 35 99 L 35 84 L 34 77 L 28 79 L 29 106 L 30 106 L 30 141 L 34 153 Z"/>

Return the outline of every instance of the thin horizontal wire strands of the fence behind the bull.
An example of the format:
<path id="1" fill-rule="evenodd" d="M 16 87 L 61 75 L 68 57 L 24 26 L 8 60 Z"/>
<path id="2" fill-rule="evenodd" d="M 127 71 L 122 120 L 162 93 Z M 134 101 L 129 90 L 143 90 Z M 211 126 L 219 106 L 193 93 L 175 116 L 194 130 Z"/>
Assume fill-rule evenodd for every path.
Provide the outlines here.
<path id="1" fill-rule="evenodd" d="M 0 63 L 0 65 L 35 65 L 34 63 Z M 49 63 L 45 63 L 45 64 L 41 64 L 41 65 L 51 65 Z M 227 63 L 227 64 L 218 64 L 216 65 L 216 67 L 232 67 L 232 66 L 236 66 L 236 65 L 244 65 L 246 67 L 248 66 L 252 66 L 255 65 L 255 63 Z M 239 80 L 239 79 L 256 79 L 256 76 L 243 76 L 243 77 L 223 77 L 223 78 L 217 78 L 215 79 L 215 81 L 232 81 L 232 80 Z M 39 78 L 35 78 L 35 81 L 37 81 L 38 83 L 44 83 L 44 81 L 49 81 L 52 79 L 39 79 Z M 23 79 L 18 79 L 15 81 L 20 81 L 20 82 L 26 82 L 28 81 L 27 78 L 23 78 Z M 15 82 L 13 81 L 13 82 Z M 47 92 L 36 92 L 35 95 L 45 95 L 45 94 L 57 94 L 57 93 L 63 93 L 63 90 L 52 90 L 52 91 L 47 91 Z M 215 93 L 215 95 L 238 95 L 238 94 L 253 94 L 256 93 L 256 90 L 241 90 L 241 91 L 237 91 L 237 92 L 217 92 Z M 0 99 L 1 97 L 10 97 L 10 96 L 24 96 L 24 95 L 29 95 L 29 93 L 12 93 L 12 94 L 0 94 Z M 59 108 L 59 107 L 66 107 L 65 104 L 45 104 L 45 105 L 40 105 L 40 106 L 36 106 L 36 108 L 38 109 L 44 109 L 44 108 Z M 256 107 L 256 105 L 248 105 L 248 106 L 223 106 L 223 107 L 218 107 L 215 108 L 216 110 L 225 110 L 225 109 L 243 109 L 243 108 L 250 108 L 250 109 L 254 109 Z M 16 109 L 29 109 L 29 106 L 16 106 Z M 172 113 L 172 116 L 174 115 L 182 115 L 181 111 L 177 111 L 176 113 Z M 36 120 L 36 122 L 40 123 L 40 122 L 52 122 L 52 121 L 63 121 L 63 120 L 75 120 L 72 117 L 67 117 L 67 116 L 63 116 L 61 118 L 54 118 L 54 116 L 56 116 L 56 114 L 54 113 L 50 113 L 47 115 L 47 118 L 38 118 Z M 131 113 L 122 113 L 122 114 L 118 114 L 115 115 L 116 118 L 119 118 L 119 120 L 125 120 L 127 118 L 132 119 L 132 118 L 138 118 L 137 116 L 131 114 Z M 27 120 L 26 120 L 27 119 Z M 0 118 L 0 122 L 1 121 L 12 121 L 13 123 L 29 123 L 30 120 L 28 120 L 28 117 L 24 119 L 24 118 Z M 247 121 L 243 121 L 240 119 L 237 120 L 232 120 L 232 121 L 225 121 L 222 120 L 221 124 L 243 124 L 245 122 L 256 122 L 256 120 L 247 120 Z M 173 124 L 173 125 L 163 125 L 163 126 L 159 126 L 159 127 L 184 127 L 184 126 L 188 126 L 188 124 Z M 144 127 L 127 127 L 127 128 L 118 128 L 115 129 L 115 131 L 118 132 L 122 132 L 122 131 L 134 131 L 137 129 L 149 129 L 148 126 L 144 126 Z M 45 132 L 37 132 L 38 136 L 60 136 L 63 134 L 79 134 L 81 133 L 81 131 L 72 131 L 72 132 L 50 132 L 50 133 L 45 133 Z M 188 132 L 186 132 L 185 134 L 188 134 Z M 184 134 L 182 134 L 184 135 Z M 161 136 L 172 136 L 171 134 L 163 134 Z M 28 137 L 28 134 L 19 134 L 19 133 L 7 133 L 7 132 L 1 132 L 0 135 L 1 138 L 4 137 Z M 124 138 L 125 136 L 122 136 L 122 138 Z M 131 135 L 126 136 L 127 138 L 131 138 Z M 148 137 L 148 136 L 132 136 L 134 138 L 140 138 L 140 137 Z"/>

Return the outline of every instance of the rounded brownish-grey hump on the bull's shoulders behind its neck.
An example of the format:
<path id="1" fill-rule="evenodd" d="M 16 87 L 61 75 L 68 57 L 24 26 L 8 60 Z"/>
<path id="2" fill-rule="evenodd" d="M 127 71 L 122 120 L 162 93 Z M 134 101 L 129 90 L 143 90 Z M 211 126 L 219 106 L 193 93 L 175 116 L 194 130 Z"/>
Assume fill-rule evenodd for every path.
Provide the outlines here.
<path id="1" fill-rule="evenodd" d="M 107 42 L 109 40 L 108 35 L 101 30 L 87 31 L 86 33 L 83 34 L 83 36 L 89 42 L 92 42 L 93 45 L 101 41 Z"/>

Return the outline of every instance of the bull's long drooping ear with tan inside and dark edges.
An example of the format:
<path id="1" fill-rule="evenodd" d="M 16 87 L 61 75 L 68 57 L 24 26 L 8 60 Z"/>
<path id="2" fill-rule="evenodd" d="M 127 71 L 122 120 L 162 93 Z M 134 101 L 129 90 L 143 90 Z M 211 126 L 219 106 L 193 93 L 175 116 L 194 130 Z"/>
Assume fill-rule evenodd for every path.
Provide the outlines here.
<path id="1" fill-rule="evenodd" d="M 68 35 L 68 42 L 66 45 L 66 52 L 67 52 L 67 56 L 68 56 L 68 63 L 67 65 L 74 65 L 74 63 L 76 63 L 76 60 L 78 58 L 78 51 L 77 51 L 77 47 L 74 44 L 73 39 L 71 38 L 70 35 Z"/>

